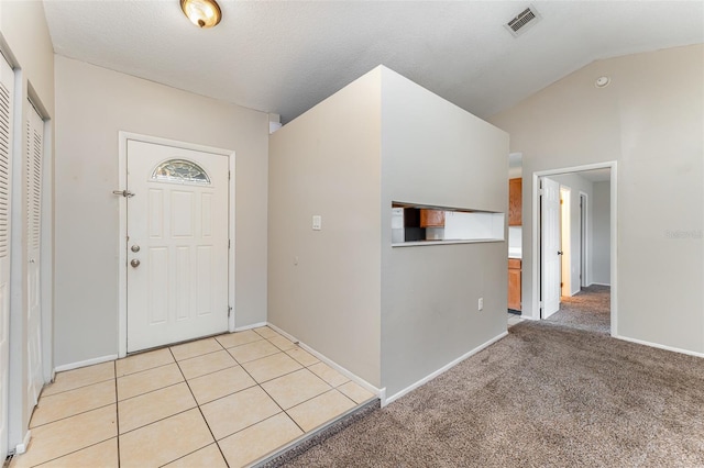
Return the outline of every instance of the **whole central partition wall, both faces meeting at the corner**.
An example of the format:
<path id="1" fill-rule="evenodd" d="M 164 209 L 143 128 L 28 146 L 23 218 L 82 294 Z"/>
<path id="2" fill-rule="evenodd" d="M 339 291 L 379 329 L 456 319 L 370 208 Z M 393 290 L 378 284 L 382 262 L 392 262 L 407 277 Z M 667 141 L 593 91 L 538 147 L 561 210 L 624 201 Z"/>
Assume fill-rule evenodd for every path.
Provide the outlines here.
<path id="1" fill-rule="evenodd" d="M 387 397 L 506 331 L 505 242 L 392 247 L 392 201 L 506 211 L 505 132 L 378 67 L 270 149 L 270 322 Z"/>

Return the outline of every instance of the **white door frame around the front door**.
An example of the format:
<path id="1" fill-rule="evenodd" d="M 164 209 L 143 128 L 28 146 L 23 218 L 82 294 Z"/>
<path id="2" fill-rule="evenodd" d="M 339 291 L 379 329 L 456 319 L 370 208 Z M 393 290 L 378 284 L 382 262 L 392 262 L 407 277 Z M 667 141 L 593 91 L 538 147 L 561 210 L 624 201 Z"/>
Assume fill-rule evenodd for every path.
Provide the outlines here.
<path id="1" fill-rule="evenodd" d="M 132 132 L 119 132 L 118 146 L 118 190 L 124 190 L 128 185 L 128 141 L 152 143 L 163 146 L 174 146 L 183 149 L 190 149 L 202 153 L 212 153 L 228 157 L 230 180 L 228 185 L 228 238 L 230 248 L 228 249 L 228 304 L 232 313 L 228 317 L 228 331 L 234 332 L 234 246 L 237 245 L 235 233 L 235 154 L 232 149 L 223 149 L 213 146 L 205 146 L 195 143 L 180 142 L 177 140 L 162 138 L 158 136 L 143 135 Z M 125 357 L 128 354 L 128 203 L 127 198 L 119 197 L 119 227 L 118 227 L 118 357 Z"/>

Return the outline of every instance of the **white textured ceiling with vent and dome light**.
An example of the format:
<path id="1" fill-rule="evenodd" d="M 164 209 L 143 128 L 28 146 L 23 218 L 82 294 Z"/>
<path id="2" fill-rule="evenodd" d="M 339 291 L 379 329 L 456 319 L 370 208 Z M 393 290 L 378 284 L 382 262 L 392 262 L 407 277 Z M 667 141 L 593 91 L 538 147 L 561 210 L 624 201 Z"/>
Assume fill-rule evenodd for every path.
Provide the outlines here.
<path id="1" fill-rule="evenodd" d="M 532 4 L 514 38 L 503 26 Z M 228 1 L 201 31 L 178 0 L 44 2 L 57 54 L 287 122 L 383 64 L 487 118 L 600 58 L 704 42 L 702 1 Z"/>

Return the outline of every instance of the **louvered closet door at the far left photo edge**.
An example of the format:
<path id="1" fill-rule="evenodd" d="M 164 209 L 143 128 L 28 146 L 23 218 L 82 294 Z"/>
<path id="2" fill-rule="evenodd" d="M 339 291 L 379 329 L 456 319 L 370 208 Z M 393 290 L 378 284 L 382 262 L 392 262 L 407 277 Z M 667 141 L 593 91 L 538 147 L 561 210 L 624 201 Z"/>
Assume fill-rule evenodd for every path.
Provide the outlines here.
<path id="1" fill-rule="evenodd" d="M 0 461 L 8 455 L 10 193 L 14 74 L 0 55 Z"/>

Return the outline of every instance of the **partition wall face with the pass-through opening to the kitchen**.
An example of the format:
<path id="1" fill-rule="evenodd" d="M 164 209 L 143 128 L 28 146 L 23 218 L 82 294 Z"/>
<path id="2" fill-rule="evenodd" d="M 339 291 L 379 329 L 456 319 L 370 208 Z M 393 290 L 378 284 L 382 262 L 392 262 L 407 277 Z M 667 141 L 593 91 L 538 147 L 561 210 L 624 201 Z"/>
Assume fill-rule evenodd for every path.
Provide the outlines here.
<path id="1" fill-rule="evenodd" d="M 392 247 L 392 201 L 506 212 L 508 135 L 389 69 L 382 82 L 382 376 L 391 398 L 506 331 L 508 268 L 506 242 Z"/>

